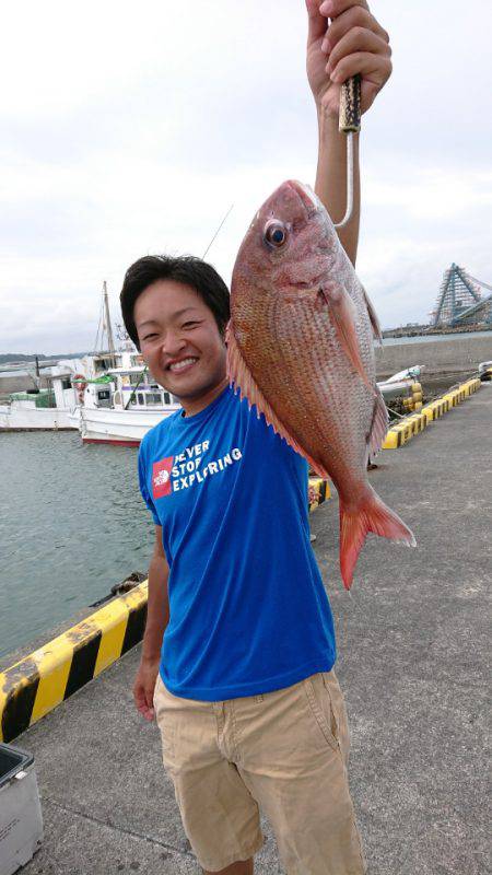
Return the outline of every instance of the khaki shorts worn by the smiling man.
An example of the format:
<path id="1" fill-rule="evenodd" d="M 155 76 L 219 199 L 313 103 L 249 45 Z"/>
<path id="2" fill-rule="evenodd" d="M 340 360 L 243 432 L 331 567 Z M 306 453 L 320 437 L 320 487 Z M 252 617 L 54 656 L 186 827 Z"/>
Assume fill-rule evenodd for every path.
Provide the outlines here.
<path id="1" fill-rule="evenodd" d="M 365 872 L 347 779 L 347 712 L 332 670 L 221 702 L 176 697 L 157 676 L 154 707 L 164 767 L 202 868 L 216 872 L 259 851 L 261 808 L 288 875 Z"/>

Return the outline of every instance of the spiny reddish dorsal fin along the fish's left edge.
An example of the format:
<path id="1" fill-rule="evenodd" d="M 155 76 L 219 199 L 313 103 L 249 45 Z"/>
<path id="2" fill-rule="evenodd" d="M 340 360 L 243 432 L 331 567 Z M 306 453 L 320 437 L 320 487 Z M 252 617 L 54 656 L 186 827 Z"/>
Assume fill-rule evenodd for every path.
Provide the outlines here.
<path id="1" fill-rule="evenodd" d="M 237 346 L 231 322 L 226 328 L 227 378 L 230 385 L 234 383 L 234 386 L 239 389 L 241 399 L 243 400 L 243 398 L 246 398 L 249 408 L 255 405 L 258 419 L 262 413 L 267 424 L 271 425 L 273 431 L 283 438 L 288 442 L 289 446 L 292 446 L 296 453 L 300 453 L 302 456 L 304 456 L 304 458 L 307 459 L 309 465 L 319 475 L 319 477 L 324 477 L 326 479 L 328 477 L 328 471 L 319 462 L 309 456 L 304 447 L 302 447 L 295 438 L 290 433 L 254 380 L 251 372 L 249 371 L 249 368 L 242 355 L 239 347 Z"/>

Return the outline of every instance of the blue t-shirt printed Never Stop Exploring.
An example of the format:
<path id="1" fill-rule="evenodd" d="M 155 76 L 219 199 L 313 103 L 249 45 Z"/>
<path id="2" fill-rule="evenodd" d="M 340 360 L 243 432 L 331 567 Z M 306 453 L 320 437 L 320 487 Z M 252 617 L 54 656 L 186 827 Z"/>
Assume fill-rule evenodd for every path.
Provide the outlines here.
<path id="1" fill-rule="evenodd" d="M 164 419 L 140 445 L 142 497 L 162 526 L 169 622 L 161 677 L 221 701 L 282 689 L 335 663 L 309 542 L 307 463 L 230 387 Z"/>

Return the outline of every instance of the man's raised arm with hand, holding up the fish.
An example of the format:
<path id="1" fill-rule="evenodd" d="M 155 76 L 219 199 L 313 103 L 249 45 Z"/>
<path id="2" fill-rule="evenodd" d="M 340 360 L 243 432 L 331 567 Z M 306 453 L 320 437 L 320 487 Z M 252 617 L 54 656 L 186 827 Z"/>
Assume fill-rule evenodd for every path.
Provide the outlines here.
<path id="1" fill-rule="evenodd" d="M 315 191 L 333 222 L 347 206 L 347 137 L 338 131 L 340 86 L 361 73 L 361 110 L 365 113 L 391 73 L 389 36 L 365 0 L 306 0 L 307 78 L 318 114 L 318 166 Z M 329 26 L 328 26 L 329 25 Z M 361 187 L 359 135 L 354 138 L 353 212 L 338 235 L 355 265 Z"/>

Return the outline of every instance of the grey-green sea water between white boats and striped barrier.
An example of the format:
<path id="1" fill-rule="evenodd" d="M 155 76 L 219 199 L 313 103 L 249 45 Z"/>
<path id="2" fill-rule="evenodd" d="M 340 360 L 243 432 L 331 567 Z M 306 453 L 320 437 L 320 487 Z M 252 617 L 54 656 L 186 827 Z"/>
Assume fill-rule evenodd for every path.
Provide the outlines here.
<path id="1" fill-rule="evenodd" d="M 147 573 L 137 453 L 75 431 L 0 433 L 0 656 Z"/>

